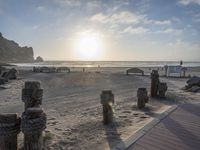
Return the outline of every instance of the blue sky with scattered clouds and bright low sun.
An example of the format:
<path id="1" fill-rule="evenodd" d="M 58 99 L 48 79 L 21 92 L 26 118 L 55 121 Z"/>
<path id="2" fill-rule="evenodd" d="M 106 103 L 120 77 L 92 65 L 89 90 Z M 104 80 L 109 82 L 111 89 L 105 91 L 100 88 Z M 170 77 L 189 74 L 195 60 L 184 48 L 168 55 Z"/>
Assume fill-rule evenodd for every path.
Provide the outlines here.
<path id="1" fill-rule="evenodd" d="M 200 0 L 0 0 L 0 32 L 45 60 L 200 61 Z"/>

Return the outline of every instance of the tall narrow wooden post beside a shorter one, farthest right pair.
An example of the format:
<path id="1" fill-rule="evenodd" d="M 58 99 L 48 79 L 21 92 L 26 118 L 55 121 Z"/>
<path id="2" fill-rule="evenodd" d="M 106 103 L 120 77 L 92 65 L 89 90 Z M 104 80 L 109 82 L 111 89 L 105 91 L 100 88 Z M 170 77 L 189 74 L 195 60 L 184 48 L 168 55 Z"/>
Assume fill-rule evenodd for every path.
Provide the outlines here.
<path id="1" fill-rule="evenodd" d="M 158 84 L 159 84 L 158 70 L 152 70 L 152 73 L 151 73 L 151 97 L 157 96 Z"/>

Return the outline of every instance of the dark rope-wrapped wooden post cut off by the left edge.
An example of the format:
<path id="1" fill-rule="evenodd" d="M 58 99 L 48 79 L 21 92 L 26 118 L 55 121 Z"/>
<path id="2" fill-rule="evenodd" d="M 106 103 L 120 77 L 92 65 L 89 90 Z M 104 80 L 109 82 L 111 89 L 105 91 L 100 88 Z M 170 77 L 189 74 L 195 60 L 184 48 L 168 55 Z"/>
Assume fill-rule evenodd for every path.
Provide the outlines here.
<path id="1" fill-rule="evenodd" d="M 17 114 L 0 114 L 0 150 L 18 149 L 20 120 Z"/>

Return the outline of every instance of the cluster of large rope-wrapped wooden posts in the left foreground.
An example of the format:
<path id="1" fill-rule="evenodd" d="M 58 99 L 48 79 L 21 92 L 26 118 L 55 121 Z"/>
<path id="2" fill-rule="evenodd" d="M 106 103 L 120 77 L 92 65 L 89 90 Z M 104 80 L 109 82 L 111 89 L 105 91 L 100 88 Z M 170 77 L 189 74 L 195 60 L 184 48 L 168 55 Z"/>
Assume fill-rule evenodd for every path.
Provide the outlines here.
<path id="1" fill-rule="evenodd" d="M 24 112 L 0 114 L 0 150 L 17 150 L 18 134 L 24 134 L 24 150 L 42 150 L 43 130 L 46 128 L 46 114 L 41 108 L 43 89 L 40 82 L 25 82 L 22 89 Z"/>

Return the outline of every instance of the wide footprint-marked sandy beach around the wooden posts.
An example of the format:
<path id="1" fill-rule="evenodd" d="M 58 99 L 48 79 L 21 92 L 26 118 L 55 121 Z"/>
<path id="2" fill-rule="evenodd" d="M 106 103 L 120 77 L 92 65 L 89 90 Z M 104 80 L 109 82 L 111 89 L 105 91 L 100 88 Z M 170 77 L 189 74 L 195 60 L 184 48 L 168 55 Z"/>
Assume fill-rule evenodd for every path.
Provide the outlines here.
<path id="1" fill-rule="evenodd" d="M 143 68 L 146 74 L 149 68 Z M 19 80 L 9 89 L 0 90 L 0 113 L 23 112 L 21 90 L 27 80 L 40 80 L 44 89 L 43 105 L 48 121 L 45 131 L 46 149 L 103 150 L 113 148 L 156 115 L 179 102 L 200 102 L 199 93 L 180 90 L 187 79 L 166 78 L 167 100 L 150 99 L 146 109 L 136 108 L 139 87 L 150 88 L 149 76 L 125 75 L 126 68 L 75 68 L 71 73 L 32 73 L 20 71 Z M 100 73 L 99 73 L 100 72 Z M 191 71 L 198 75 L 200 69 Z M 162 72 L 160 72 L 162 74 Z M 100 93 L 110 89 L 115 96 L 115 120 L 102 124 Z"/>

